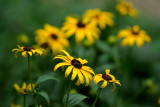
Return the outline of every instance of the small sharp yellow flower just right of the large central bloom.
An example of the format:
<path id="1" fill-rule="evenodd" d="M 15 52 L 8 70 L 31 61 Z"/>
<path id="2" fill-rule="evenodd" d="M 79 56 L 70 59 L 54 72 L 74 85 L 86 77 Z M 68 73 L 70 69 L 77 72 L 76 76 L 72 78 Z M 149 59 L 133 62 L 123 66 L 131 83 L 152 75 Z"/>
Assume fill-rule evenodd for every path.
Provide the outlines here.
<path id="1" fill-rule="evenodd" d="M 115 83 L 119 84 L 121 86 L 121 83 L 119 82 L 119 80 L 116 80 L 115 77 L 111 74 L 109 74 L 110 70 L 106 69 L 106 74 L 96 74 L 93 77 L 93 81 L 95 82 L 95 84 L 97 85 L 98 82 L 103 81 L 102 85 L 100 86 L 101 88 L 105 88 L 107 86 L 107 83 L 112 83 L 114 85 L 114 88 L 112 90 L 115 89 Z"/>

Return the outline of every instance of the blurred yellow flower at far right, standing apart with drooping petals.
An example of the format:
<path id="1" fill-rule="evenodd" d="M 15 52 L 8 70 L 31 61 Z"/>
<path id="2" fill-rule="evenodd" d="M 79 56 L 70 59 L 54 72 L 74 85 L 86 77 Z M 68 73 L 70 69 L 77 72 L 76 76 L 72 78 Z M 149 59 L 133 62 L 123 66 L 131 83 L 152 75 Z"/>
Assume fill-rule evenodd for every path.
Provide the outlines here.
<path id="1" fill-rule="evenodd" d="M 151 41 L 147 33 L 144 30 L 140 30 L 138 25 L 133 26 L 133 28 L 127 27 L 126 29 L 120 30 L 117 37 L 118 39 L 122 38 L 122 46 L 133 46 L 134 43 L 136 43 L 138 47 L 142 47 L 144 42 L 149 43 Z"/>

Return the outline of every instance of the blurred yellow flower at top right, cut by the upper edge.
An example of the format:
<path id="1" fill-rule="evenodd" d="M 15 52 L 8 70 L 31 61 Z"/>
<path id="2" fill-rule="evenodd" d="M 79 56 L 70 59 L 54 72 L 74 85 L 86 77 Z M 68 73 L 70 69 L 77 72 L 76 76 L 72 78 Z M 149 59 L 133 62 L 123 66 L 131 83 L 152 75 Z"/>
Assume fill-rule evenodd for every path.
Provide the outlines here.
<path id="1" fill-rule="evenodd" d="M 119 0 L 119 3 L 116 6 L 116 10 L 119 11 L 122 15 L 137 15 L 137 10 L 134 8 L 133 3 L 130 1 Z"/>

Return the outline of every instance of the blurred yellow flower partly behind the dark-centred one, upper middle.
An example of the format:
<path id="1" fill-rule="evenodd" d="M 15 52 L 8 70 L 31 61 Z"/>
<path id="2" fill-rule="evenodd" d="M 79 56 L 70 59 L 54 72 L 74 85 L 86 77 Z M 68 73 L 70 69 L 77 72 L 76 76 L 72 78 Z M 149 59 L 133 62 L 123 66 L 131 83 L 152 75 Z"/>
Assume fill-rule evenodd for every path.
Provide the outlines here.
<path id="1" fill-rule="evenodd" d="M 113 14 L 110 12 L 102 12 L 99 9 L 87 10 L 84 14 L 84 21 L 99 25 L 101 29 L 105 29 L 106 25 L 113 26 Z"/>

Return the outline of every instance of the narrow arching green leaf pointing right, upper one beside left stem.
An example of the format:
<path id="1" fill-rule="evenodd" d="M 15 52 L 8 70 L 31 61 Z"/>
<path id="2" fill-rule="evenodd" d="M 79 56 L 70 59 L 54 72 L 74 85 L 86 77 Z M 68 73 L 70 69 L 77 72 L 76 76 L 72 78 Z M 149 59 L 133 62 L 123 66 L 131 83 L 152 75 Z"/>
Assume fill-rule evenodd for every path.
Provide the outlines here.
<path id="1" fill-rule="evenodd" d="M 50 75 L 43 75 L 43 76 L 40 76 L 37 81 L 35 82 L 35 86 L 37 86 L 38 84 L 44 82 L 44 81 L 47 81 L 47 80 L 56 80 L 58 81 L 55 77 L 52 77 Z"/>

